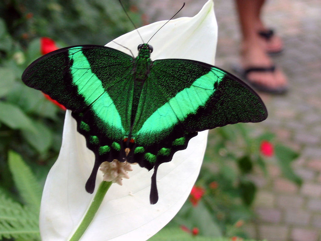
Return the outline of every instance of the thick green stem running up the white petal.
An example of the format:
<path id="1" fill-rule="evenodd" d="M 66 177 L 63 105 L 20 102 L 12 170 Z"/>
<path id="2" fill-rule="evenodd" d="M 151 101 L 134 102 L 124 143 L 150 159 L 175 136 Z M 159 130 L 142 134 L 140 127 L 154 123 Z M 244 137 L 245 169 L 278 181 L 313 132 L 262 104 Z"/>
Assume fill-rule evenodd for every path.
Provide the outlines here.
<path id="1" fill-rule="evenodd" d="M 94 199 L 92 200 L 91 205 L 87 210 L 87 213 L 83 217 L 81 224 L 79 225 L 77 230 L 74 232 L 74 235 L 69 239 L 69 241 L 78 241 L 82 237 L 83 233 L 88 228 L 92 219 L 94 219 L 95 214 L 98 208 L 100 207 L 100 204 L 104 199 L 106 192 L 108 191 L 111 184 L 112 182 L 105 182 L 105 181 L 102 181 L 100 183 L 99 188 L 94 196 Z"/>

